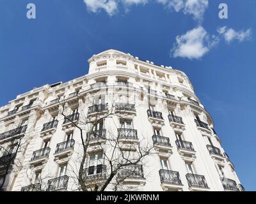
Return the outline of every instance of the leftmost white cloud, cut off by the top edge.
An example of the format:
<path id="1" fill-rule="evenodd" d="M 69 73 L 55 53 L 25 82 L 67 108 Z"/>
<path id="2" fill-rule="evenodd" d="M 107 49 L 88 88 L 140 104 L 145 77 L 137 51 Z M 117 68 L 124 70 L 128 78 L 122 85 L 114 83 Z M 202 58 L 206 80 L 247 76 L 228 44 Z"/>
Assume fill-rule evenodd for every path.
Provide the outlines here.
<path id="1" fill-rule="evenodd" d="M 114 15 L 118 5 L 115 0 L 84 0 L 84 3 L 93 13 L 105 10 L 108 15 Z"/>

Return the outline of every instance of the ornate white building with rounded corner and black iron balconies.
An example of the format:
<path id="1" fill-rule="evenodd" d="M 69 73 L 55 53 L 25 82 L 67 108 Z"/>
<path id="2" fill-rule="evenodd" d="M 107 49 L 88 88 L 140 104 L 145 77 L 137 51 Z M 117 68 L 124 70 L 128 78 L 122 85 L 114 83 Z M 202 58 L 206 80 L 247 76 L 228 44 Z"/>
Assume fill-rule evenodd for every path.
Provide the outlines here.
<path id="1" fill-rule="evenodd" d="M 110 137 L 116 141 L 120 135 L 118 147 L 129 154 L 127 158 L 140 149 L 139 144 L 152 147 L 152 154 L 116 173 L 116 181 L 126 173 L 118 191 L 244 190 L 211 115 L 184 72 L 117 50 L 93 55 L 88 62 L 88 75 L 35 88 L 0 108 L 4 190 L 81 190 L 77 174 L 83 146 L 74 124 L 83 126 L 83 120 L 104 117 L 113 107 L 120 112 L 104 117 L 93 128 L 97 134 L 88 137 L 86 187 L 108 179 L 111 167 L 106 157 L 111 148 L 106 141 Z M 86 129 L 90 128 L 83 127 L 84 135 Z M 6 175 L 10 160 L 12 168 Z M 106 190 L 113 191 L 113 185 Z"/>

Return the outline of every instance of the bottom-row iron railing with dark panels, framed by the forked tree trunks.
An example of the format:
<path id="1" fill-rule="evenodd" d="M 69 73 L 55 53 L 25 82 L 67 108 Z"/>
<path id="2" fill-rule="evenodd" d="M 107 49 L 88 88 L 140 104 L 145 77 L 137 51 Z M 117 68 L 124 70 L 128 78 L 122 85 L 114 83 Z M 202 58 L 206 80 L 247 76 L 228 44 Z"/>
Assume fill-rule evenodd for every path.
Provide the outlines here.
<path id="1" fill-rule="evenodd" d="M 106 165 L 89 166 L 83 170 L 84 180 L 106 179 Z"/>

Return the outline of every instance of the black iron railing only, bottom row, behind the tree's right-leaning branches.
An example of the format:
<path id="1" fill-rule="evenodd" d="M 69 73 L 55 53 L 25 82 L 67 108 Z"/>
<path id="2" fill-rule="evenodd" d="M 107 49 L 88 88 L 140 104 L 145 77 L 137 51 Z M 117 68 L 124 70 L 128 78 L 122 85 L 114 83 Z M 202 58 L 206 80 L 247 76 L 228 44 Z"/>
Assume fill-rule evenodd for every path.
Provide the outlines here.
<path id="1" fill-rule="evenodd" d="M 122 179 L 144 179 L 142 165 L 121 166 L 118 169 L 117 176 Z"/>

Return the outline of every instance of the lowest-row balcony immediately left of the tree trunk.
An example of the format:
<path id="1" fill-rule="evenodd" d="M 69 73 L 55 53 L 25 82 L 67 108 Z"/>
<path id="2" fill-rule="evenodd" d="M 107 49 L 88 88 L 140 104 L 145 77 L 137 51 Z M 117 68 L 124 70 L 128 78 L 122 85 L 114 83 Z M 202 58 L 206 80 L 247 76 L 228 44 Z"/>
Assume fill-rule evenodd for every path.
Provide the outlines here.
<path id="1" fill-rule="evenodd" d="M 68 176 L 58 177 L 56 179 L 48 180 L 46 191 L 67 191 Z"/>

